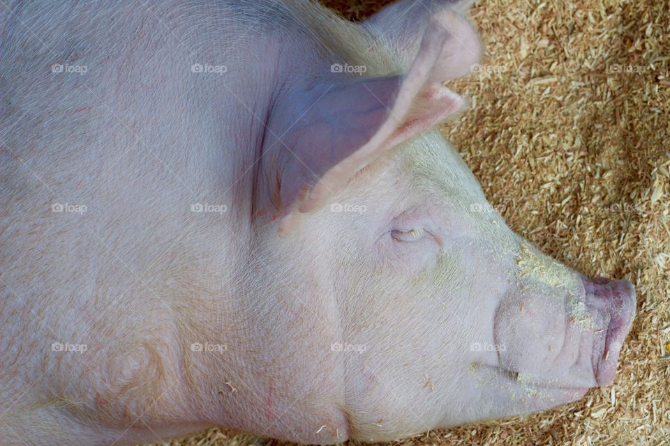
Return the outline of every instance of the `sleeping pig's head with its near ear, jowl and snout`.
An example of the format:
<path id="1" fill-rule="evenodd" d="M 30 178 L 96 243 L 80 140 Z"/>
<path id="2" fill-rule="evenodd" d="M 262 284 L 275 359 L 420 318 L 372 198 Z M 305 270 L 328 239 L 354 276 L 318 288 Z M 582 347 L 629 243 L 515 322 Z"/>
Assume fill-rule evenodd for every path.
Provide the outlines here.
<path id="1" fill-rule="evenodd" d="M 328 308 L 315 310 L 325 334 L 312 334 L 325 348 L 359 346 L 319 363 L 347 377 L 338 404 L 366 439 L 608 385 L 635 310 L 630 282 L 583 277 L 491 208 L 433 128 L 463 105 L 442 81 L 479 60 L 476 33 L 442 10 L 422 36 L 405 75 L 329 73 L 292 89 L 265 146 L 281 153 L 263 187 L 284 212 L 282 238 L 276 221 L 257 229 L 258 254 L 285 285 L 268 289 Z"/>

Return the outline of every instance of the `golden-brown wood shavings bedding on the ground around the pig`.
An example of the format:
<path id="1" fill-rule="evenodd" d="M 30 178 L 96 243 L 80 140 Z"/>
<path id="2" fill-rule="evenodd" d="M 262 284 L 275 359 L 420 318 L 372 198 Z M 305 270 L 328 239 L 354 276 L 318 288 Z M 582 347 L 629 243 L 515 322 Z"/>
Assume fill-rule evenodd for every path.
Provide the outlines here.
<path id="1" fill-rule="evenodd" d="M 329 0 L 352 20 L 388 1 Z M 660 445 L 670 438 L 670 6 L 479 0 L 482 69 L 445 132 L 514 231 L 589 275 L 625 277 L 638 316 L 613 386 L 555 410 L 399 445 Z M 277 443 L 213 429 L 173 446 Z"/>

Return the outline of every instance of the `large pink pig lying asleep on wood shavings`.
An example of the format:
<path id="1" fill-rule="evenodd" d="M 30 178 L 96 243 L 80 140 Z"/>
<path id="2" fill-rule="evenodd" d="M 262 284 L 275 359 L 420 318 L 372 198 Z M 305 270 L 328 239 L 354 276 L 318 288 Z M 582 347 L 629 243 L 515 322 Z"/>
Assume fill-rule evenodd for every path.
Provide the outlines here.
<path id="1" fill-rule="evenodd" d="M 0 438 L 393 440 L 613 382 L 636 300 L 508 228 L 438 124 L 468 4 L 0 7 Z"/>

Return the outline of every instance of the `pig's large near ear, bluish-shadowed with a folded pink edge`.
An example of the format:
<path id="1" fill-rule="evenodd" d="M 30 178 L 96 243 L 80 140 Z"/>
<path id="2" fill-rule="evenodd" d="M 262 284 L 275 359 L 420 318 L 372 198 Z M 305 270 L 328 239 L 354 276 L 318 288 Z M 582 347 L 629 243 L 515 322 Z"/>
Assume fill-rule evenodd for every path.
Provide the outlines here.
<path id="1" fill-rule="evenodd" d="M 407 75 L 320 82 L 288 100 L 275 141 L 284 152 L 278 183 L 288 210 L 280 234 L 375 157 L 458 111 L 463 98 L 442 82 L 465 74 L 473 59 L 479 59 L 475 31 L 444 10 L 429 22 Z"/>

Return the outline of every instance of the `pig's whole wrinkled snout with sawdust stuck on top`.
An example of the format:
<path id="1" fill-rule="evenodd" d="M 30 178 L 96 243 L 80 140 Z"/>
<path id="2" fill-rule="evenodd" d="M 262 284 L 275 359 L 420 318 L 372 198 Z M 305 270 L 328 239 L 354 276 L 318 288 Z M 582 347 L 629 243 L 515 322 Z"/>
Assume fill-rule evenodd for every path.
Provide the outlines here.
<path id="1" fill-rule="evenodd" d="M 493 336 L 507 347 L 499 367 L 545 390 L 610 385 L 635 316 L 633 285 L 589 279 L 532 253 L 519 264 L 523 280 L 496 310 Z"/>

